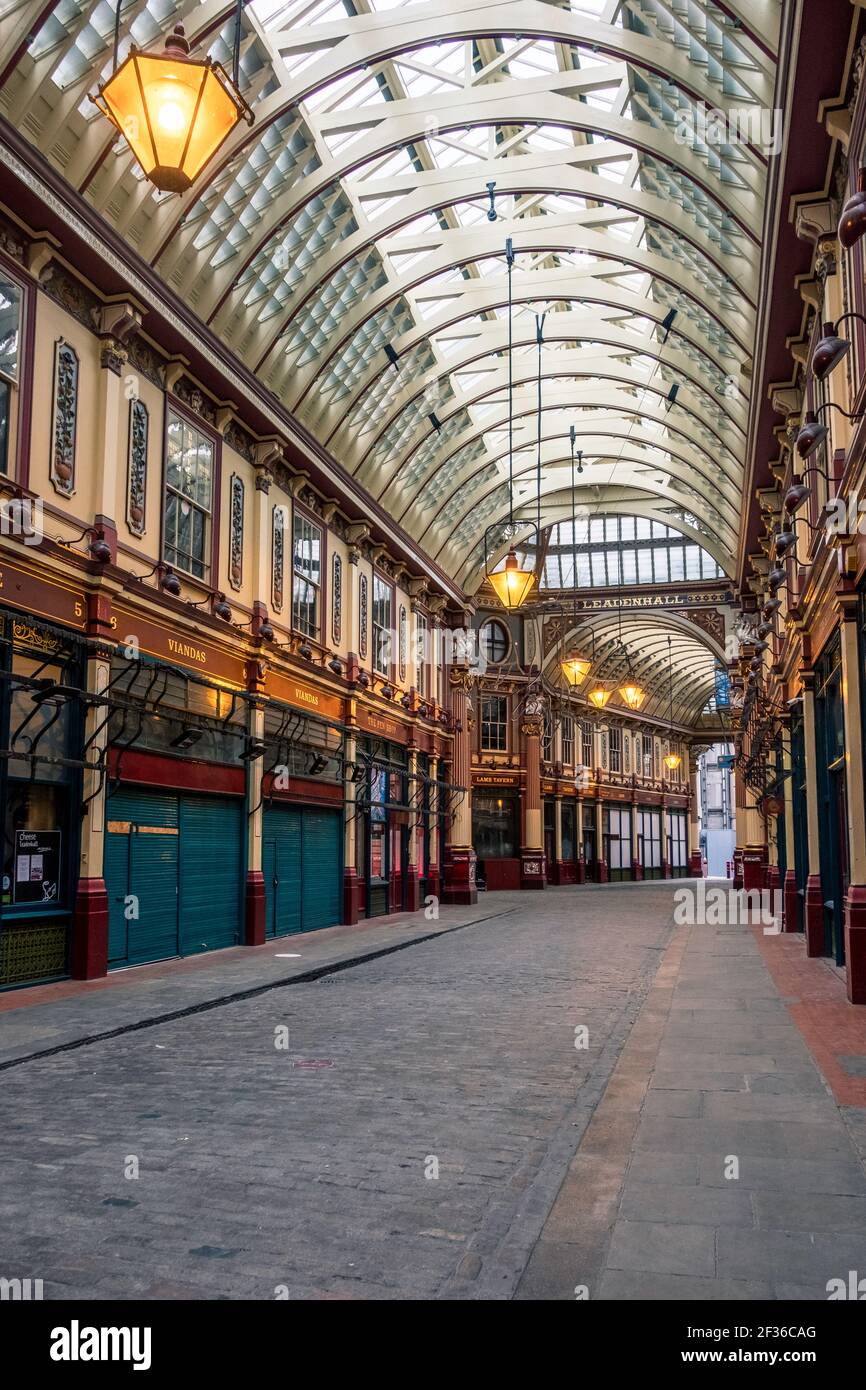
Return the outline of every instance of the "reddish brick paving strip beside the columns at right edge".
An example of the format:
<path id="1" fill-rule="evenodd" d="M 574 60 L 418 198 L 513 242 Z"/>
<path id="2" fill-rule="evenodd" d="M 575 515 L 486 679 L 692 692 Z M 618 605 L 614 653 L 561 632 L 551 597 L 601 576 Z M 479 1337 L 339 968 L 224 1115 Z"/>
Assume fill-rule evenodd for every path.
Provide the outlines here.
<path id="1" fill-rule="evenodd" d="M 806 956 L 802 935 L 765 937 L 760 927 L 752 930 L 765 965 L 838 1104 L 866 1108 L 866 1076 L 849 1076 L 840 1061 L 866 1058 L 866 1008 L 848 1002 L 841 972 Z"/>

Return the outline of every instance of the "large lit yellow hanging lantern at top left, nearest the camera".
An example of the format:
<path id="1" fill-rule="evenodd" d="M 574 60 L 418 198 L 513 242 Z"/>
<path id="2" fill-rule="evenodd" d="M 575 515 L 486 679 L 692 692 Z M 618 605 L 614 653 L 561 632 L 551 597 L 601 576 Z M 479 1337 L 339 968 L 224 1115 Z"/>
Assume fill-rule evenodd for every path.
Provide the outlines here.
<path id="1" fill-rule="evenodd" d="M 190 58 L 183 25 L 167 36 L 163 53 L 132 47 L 90 100 L 165 193 L 186 192 L 238 122 L 254 121 L 220 63 Z"/>

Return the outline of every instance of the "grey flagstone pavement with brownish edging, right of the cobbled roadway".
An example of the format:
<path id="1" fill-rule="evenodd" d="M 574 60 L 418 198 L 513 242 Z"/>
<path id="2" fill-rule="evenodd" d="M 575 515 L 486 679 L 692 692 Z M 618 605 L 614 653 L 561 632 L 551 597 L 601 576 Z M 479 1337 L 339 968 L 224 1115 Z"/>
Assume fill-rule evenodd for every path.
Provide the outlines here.
<path id="1" fill-rule="evenodd" d="M 603 1202 L 581 1208 L 566 1179 L 518 1297 L 573 1298 L 584 1284 L 603 1300 L 817 1300 L 866 1268 L 866 1109 L 840 1106 L 819 1070 L 791 947 L 788 997 L 771 945 L 745 926 L 671 941 L 631 1034 L 655 998 L 656 1045 L 638 1052 Z M 596 1116 L 614 1086 L 616 1073 Z"/>

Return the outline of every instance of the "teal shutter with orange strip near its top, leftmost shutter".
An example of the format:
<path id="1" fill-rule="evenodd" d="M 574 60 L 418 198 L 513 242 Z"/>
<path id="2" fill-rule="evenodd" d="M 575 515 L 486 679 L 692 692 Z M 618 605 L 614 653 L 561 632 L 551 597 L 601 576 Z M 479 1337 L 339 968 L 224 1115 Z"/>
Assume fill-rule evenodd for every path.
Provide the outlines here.
<path id="1" fill-rule="evenodd" d="M 108 796 L 106 821 L 108 963 L 177 955 L 177 796 L 121 788 Z"/>

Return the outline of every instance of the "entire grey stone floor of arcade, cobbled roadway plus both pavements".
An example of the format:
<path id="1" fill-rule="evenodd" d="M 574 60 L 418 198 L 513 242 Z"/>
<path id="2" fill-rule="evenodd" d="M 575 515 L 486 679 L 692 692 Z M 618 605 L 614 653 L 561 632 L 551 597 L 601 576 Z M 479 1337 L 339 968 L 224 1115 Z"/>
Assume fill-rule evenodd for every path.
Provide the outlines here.
<path id="1" fill-rule="evenodd" d="M 131 1031 L 53 1055 L 19 1059 L 86 1038 L 86 994 L 0 1013 L 0 1275 L 46 1298 L 808 1298 L 866 1270 L 849 1127 L 748 929 L 674 929 L 667 884 L 471 916 L 154 1026 L 129 977 L 92 1031 Z M 153 1015 L 183 979 L 197 1001 L 182 969 L 142 974 Z M 218 983 L 214 958 L 209 1004 Z"/>

